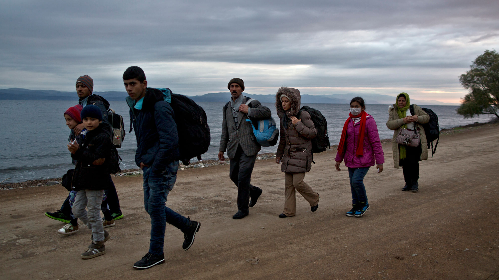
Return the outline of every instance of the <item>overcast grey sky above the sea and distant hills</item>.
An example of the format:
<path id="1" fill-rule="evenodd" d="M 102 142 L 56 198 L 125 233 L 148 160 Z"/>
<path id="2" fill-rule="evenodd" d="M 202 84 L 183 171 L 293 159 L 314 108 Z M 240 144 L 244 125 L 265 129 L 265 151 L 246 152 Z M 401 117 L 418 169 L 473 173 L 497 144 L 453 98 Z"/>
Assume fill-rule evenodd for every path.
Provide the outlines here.
<path id="1" fill-rule="evenodd" d="M 124 91 L 123 71 L 185 95 L 407 92 L 459 102 L 499 50 L 497 0 L 0 1 L 0 88 Z"/>

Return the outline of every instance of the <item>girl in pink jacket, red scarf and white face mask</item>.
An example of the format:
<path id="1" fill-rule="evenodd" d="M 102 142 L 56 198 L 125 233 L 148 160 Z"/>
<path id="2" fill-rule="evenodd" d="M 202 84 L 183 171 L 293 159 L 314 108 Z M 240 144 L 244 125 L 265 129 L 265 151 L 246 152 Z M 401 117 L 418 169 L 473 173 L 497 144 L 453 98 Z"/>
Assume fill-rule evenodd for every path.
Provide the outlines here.
<path id="1" fill-rule="evenodd" d="M 336 170 L 344 159 L 350 177 L 352 191 L 352 209 L 347 216 L 361 217 L 369 209 L 364 176 L 370 166 L 376 164 L 378 172 L 383 171 L 383 148 L 379 140 L 378 127 L 373 117 L 365 112 L 364 99 L 354 97 L 350 101 L 350 117 L 341 132 L 341 140 L 336 153 Z"/>

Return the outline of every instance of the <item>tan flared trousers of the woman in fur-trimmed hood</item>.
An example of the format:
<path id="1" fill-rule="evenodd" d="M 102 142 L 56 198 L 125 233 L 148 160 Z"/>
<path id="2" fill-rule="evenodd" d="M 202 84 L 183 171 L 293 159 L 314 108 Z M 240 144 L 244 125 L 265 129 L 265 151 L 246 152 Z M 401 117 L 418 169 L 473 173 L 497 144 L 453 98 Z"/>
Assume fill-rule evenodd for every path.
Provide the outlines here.
<path id="1" fill-rule="evenodd" d="M 310 204 L 311 207 L 319 204 L 319 194 L 314 192 L 312 188 L 303 181 L 305 172 L 290 173 L 285 172 L 284 179 L 284 213 L 286 216 L 291 217 L 296 214 L 296 191 L 297 190 L 303 198 Z"/>

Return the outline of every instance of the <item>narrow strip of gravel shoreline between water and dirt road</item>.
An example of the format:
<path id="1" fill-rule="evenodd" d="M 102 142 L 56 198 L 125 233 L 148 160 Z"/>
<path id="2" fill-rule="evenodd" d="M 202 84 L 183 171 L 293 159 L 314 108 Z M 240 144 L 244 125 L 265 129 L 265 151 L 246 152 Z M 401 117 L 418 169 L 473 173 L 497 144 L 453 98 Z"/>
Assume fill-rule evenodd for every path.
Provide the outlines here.
<path id="1" fill-rule="evenodd" d="M 459 126 L 459 127 L 454 127 L 451 129 L 443 129 L 440 131 L 441 135 L 451 135 L 454 133 L 461 133 L 464 130 L 473 130 L 477 129 L 480 127 L 484 126 L 491 126 L 498 124 L 498 120 L 493 120 L 489 123 L 474 123 L 466 126 Z M 382 143 L 388 143 L 391 142 L 391 139 L 383 139 L 381 140 Z M 331 145 L 331 148 L 326 150 L 326 152 L 332 152 L 336 151 L 336 146 L 337 145 Z M 257 160 L 262 160 L 262 159 L 269 159 L 269 158 L 275 158 L 275 153 L 263 153 L 259 154 L 257 157 Z M 220 160 L 202 160 L 198 162 L 193 162 L 189 165 L 183 165 L 180 163 L 179 169 L 180 170 L 185 170 L 188 168 L 204 168 L 208 166 L 213 166 L 213 165 L 224 165 L 224 164 L 229 164 L 229 160 L 227 161 L 220 161 Z M 129 175 L 140 175 L 142 174 L 142 169 L 140 168 L 134 168 L 134 169 L 125 169 L 121 171 L 121 174 L 119 175 L 111 175 L 112 177 L 121 177 L 121 176 L 129 176 Z M 35 179 L 35 180 L 27 180 L 23 182 L 9 182 L 9 183 L 0 183 L 0 190 L 10 190 L 10 189 L 16 189 L 16 188 L 25 188 L 25 187 L 40 187 L 40 186 L 47 186 L 47 185 L 56 185 L 60 184 L 60 181 L 62 178 L 48 178 L 48 179 Z"/>

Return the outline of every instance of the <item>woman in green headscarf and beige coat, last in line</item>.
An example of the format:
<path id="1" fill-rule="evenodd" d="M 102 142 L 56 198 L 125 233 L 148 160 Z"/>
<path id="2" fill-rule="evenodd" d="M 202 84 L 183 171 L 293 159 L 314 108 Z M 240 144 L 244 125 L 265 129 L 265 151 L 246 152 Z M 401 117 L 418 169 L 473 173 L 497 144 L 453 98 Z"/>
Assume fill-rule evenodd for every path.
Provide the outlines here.
<path id="1" fill-rule="evenodd" d="M 425 130 L 421 124 L 430 121 L 430 116 L 421 107 L 413 105 L 414 116 L 410 110 L 411 103 L 409 95 L 405 92 L 397 95 L 397 103 L 388 109 L 389 117 L 386 126 L 393 130 L 392 151 L 395 168 L 400 168 L 404 172 L 405 186 L 403 191 L 418 191 L 419 184 L 419 161 L 428 159 L 428 149 L 426 147 Z M 401 129 L 419 130 L 421 143 L 417 147 L 398 144 L 395 140 Z"/>

